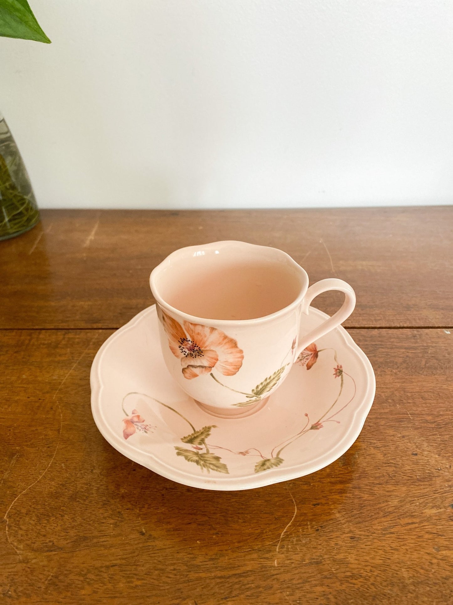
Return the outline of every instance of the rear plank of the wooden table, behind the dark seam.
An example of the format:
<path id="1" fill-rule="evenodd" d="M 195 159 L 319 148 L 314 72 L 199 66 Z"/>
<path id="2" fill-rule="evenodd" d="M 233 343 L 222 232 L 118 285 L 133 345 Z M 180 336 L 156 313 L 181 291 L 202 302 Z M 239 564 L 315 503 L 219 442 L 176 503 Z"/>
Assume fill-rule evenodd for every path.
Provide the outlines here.
<path id="1" fill-rule="evenodd" d="M 350 283 L 358 304 L 345 327 L 451 326 L 452 225 L 453 206 L 43 211 L 1 244 L 0 327 L 118 328 L 154 302 L 149 274 L 170 252 L 219 240 L 281 248 L 311 283 Z M 315 306 L 332 313 L 340 299 Z"/>

